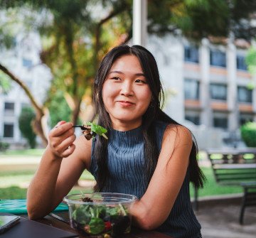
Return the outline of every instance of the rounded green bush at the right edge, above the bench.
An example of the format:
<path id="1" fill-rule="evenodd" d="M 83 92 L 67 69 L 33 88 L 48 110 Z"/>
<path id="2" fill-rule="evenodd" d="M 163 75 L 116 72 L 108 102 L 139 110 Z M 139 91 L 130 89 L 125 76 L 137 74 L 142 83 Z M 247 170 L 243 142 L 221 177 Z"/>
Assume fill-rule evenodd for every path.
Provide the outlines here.
<path id="1" fill-rule="evenodd" d="M 242 140 L 246 146 L 256 147 L 256 122 L 247 122 L 240 127 Z"/>

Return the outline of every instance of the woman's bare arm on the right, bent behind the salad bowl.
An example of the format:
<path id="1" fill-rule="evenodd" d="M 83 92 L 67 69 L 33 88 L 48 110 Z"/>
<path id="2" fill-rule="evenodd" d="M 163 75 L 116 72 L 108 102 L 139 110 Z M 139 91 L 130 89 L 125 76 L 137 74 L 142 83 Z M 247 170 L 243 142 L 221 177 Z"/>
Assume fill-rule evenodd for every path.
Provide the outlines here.
<path id="1" fill-rule="evenodd" d="M 191 147 L 188 129 L 183 126 L 167 127 L 149 187 L 131 208 L 135 225 L 142 229 L 155 229 L 169 216 L 186 176 Z"/>

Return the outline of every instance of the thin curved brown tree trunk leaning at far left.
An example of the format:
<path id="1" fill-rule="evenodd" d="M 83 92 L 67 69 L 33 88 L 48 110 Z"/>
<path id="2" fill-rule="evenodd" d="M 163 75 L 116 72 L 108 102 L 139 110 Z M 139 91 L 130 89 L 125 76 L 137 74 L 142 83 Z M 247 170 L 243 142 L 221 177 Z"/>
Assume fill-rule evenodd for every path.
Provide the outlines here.
<path id="1" fill-rule="evenodd" d="M 11 80 L 16 82 L 18 85 L 21 86 L 21 88 L 24 90 L 26 95 L 28 96 L 28 99 L 31 101 L 33 109 L 36 111 L 36 119 L 33 121 L 33 131 L 38 135 L 44 146 L 47 145 L 47 139 L 46 139 L 46 133 L 45 130 L 43 129 L 43 117 L 45 117 L 45 112 L 43 107 L 41 107 L 38 102 L 36 102 L 36 99 L 33 97 L 31 94 L 30 90 L 28 87 L 22 82 L 21 80 L 18 79 L 11 71 L 9 71 L 4 65 L 0 64 L 0 70 L 3 71 L 6 75 L 8 75 Z"/>

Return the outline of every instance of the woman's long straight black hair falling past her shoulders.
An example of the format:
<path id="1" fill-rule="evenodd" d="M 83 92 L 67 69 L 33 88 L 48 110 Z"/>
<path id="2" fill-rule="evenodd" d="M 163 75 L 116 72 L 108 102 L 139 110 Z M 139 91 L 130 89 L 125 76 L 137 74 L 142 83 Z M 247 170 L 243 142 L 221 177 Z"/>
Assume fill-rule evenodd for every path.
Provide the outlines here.
<path id="1" fill-rule="evenodd" d="M 144 175 L 149 181 L 154 173 L 156 163 L 159 158 L 159 149 L 156 146 L 154 122 L 158 120 L 174 125 L 179 124 L 161 110 L 161 102 L 164 102 L 164 92 L 161 86 L 156 60 L 149 50 L 146 50 L 146 48 L 140 45 L 119 45 L 110 50 L 110 52 L 102 59 L 95 77 L 93 93 L 93 102 L 95 104 L 96 113 L 99 116 L 98 124 L 104 126 L 106 129 L 112 128 L 110 115 L 107 113 L 102 99 L 102 85 L 105 82 L 113 63 L 122 55 L 135 55 L 139 59 L 146 81 L 152 93 L 150 106 L 142 117 L 142 130 L 145 141 L 144 158 L 146 158 L 144 163 Z M 193 146 L 189 156 L 188 170 L 190 172 L 190 180 L 193 185 L 196 188 L 203 188 L 203 181 L 205 180 L 205 177 L 198 166 L 196 159 L 197 153 L 198 148 L 196 140 L 193 137 Z M 101 191 L 105 188 L 105 185 L 107 185 L 110 175 L 107 169 L 107 140 L 102 139 L 102 136 L 97 137 L 93 156 L 95 157 L 98 166 L 97 183 L 94 189 L 95 191 Z"/>

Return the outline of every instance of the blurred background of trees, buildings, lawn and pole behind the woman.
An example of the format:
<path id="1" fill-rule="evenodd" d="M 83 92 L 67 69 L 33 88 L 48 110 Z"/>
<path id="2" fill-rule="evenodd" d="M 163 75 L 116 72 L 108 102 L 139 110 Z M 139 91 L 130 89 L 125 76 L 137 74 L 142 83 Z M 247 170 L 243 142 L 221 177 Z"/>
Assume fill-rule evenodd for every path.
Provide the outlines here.
<path id="1" fill-rule="evenodd" d="M 240 195 L 215 183 L 205 151 L 256 147 L 255 36 L 255 1 L 0 0 L 0 199 L 26 198 L 58 121 L 95 119 L 95 72 L 121 43 L 155 56 L 164 112 L 198 142 L 199 197 Z M 85 171 L 74 190 L 93 184 Z"/>

